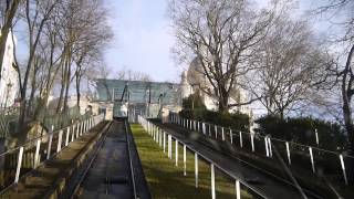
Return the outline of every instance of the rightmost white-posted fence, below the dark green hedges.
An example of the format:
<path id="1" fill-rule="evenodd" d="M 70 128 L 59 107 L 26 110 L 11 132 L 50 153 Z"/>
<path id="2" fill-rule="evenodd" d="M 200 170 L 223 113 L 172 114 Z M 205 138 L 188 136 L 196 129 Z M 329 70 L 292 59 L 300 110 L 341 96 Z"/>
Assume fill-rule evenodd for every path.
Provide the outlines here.
<path id="1" fill-rule="evenodd" d="M 239 132 L 215 124 L 186 119 L 177 114 L 171 114 L 169 122 L 188 130 L 201 133 L 206 137 L 229 143 L 232 147 L 238 147 L 242 151 L 257 156 L 257 159 L 264 160 L 264 163 L 268 163 L 269 168 L 275 167 L 272 160 L 277 150 L 281 159 L 284 159 L 291 171 L 295 174 L 309 175 L 306 177 L 314 179 L 317 176 L 324 177 L 326 175 L 326 178 L 331 178 L 331 180 L 337 180 L 337 177 L 341 176 L 342 184 L 348 185 L 345 163 L 350 158 L 354 158 L 353 156 L 271 138 L 269 135 Z"/>

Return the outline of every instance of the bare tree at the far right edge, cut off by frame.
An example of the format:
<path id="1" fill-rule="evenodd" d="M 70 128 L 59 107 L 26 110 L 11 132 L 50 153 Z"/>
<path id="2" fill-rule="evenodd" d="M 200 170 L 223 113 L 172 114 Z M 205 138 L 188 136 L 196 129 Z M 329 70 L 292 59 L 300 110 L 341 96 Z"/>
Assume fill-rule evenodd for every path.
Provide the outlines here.
<path id="1" fill-rule="evenodd" d="M 340 57 L 333 64 L 334 67 L 327 70 L 335 76 L 341 91 L 341 102 L 343 123 L 348 136 L 350 150 L 354 154 L 354 123 L 353 123 L 353 96 L 354 96 L 354 1 L 351 0 L 326 0 L 313 10 L 315 14 L 334 21 L 335 35 L 332 35 L 333 49 L 340 49 Z M 351 184 L 354 182 L 354 161 L 350 164 L 348 176 Z"/>

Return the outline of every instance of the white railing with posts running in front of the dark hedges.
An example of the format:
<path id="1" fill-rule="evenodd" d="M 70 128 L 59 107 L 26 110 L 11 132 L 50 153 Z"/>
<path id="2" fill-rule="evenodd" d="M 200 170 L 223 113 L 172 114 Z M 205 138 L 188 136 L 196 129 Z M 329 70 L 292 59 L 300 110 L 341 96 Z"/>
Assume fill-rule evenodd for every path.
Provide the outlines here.
<path id="1" fill-rule="evenodd" d="M 194 121 L 194 119 L 187 119 L 180 117 L 178 114 L 171 114 L 169 116 L 169 123 L 176 124 L 180 127 L 184 127 L 188 130 L 201 133 L 207 137 L 222 140 L 222 142 L 229 142 L 231 145 L 239 145 L 240 148 L 244 149 L 244 143 L 248 143 L 250 145 L 249 150 L 251 153 L 254 153 L 257 155 L 263 155 L 266 158 L 272 158 L 273 157 L 273 145 L 278 144 L 277 146 L 282 146 L 284 149 L 284 155 L 288 160 L 288 165 L 294 164 L 292 161 L 292 155 L 300 154 L 301 156 L 309 157 L 309 166 L 311 166 L 312 172 L 315 174 L 316 170 L 320 170 L 317 165 L 315 164 L 315 154 L 327 155 L 327 158 L 331 160 L 336 159 L 337 168 L 340 168 L 341 175 L 343 176 L 343 180 L 345 185 L 348 185 L 347 181 L 347 175 L 346 175 L 346 168 L 345 168 L 345 158 L 354 158 L 350 155 L 340 154 L 332 150 L 326 150 L 319 147 L 302 145 L 299 143 L 293 142 L 287 142 L 282 139 L 271 138 L 269 135 L 262 136 L 259 134 L 254 134 L 253 132 L 247 133 L 247 132 L 240 132 L 235 130 L 229 127 L 222 127 L 215 124 L 209 124 L 200 121 Z M 315 140 L 319 143 L 317 132 L 315 132 Z M 221 136 L 220 136 L 221 134 Z M 261 146 L 261 148 L 257 148 L 256 144 L 258 146 Z M 298 149 L 295 151 L 295 148 Z M 258 151 L 257 151 L 258 150 Z M 331 161 L 330 160 L 330 161 Z M 331 163 L 333 164 L 333 163 Z"/>

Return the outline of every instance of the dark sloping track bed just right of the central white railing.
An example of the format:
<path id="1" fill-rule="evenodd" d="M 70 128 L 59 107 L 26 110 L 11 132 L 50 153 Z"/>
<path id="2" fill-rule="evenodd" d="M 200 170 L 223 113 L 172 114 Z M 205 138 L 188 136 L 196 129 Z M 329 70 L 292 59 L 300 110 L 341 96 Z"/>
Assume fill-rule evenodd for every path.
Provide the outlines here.
<path id="1" fill-rule="evenodd" d="M 250 179 L 257 179 L 259 182 L 254 182 L 251 186 L 263 192 L 268 198 L 287 198 L 287 199 L 298 199 L 302 198 L 299 191 L 288 185 L 280 182 L 273 178 L 270 178 L 268 175 L 251 168 L 238 159 L 230 156 L 223 155 L 210 147 L 205 146 L 204 144 L 197 142 L 200 134 L 190 134 L 188 130 L 177 127 L 175 125 L 155 123 L 157 126 L 162 127 L 168 134 L 177 137 L 181 142 L 186 143 L 187 146 L 192 147 L 202 156 L 208 157 L 216 164 L 218 164 L 222 169 L 227 170 L 235 176 L 238 176 L 243 181 L 249 181 Z M 177 130 L 178 133 L 177 133 Z"/>

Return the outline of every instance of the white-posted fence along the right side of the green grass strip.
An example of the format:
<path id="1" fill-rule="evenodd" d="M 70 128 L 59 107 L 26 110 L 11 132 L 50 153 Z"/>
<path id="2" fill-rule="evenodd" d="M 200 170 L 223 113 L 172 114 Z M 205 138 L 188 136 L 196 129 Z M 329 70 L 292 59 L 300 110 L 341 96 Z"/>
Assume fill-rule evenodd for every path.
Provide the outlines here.
<path id="1" fill-rule="evenodd" d="M 158 143 L 159 147 L 163 148 L 164 153 L 166 153 L 167 149 L 167 156 L 168 158 L 173 158 L 173 140 L 175 139 L 175 157 L 176 157 L 176 166 L 178 165 L 178 146 L 181 145 L 184 147 L 184 175 L 186 175 L 186 150 L 190 150 L 192 154 L 195 154 L 195 186 L 198 188 L 198 161 L 199 159 L 206 160 L 208 164 L 210 164 L 210 177 L 211 177 L 211 198 L 216 198 L 216 180 L 215 180 L 215 170 L 219 169 L 230 178 L 235 180 L 235 188 L 236 188 L 236 198 L 240 199 L 241 198 L 241 187 L 246 187 L 249 191 L 252 191 L 254 196 L 258 198 L 267 198 L 263 193 L 261 193 L 259 190 L 256 190 L 253 187 L 248 185 L 246 181 L 241 180 L 237 176 L 228 172 L 225 170 L 222 167 L 220 167 L 218 164 L 209 159 L 208 157 L 201 155 L 198 153 L 196 149 L 192 147 L 186 145 L 184 142 L 179 140 L 177 137 L 168 134 L 167 132 L 164 132 L 163 129 L 158 128 L 156 125 L 150 123 L 149 121 L 145 119 L 142 116 L 138 116 L 138 123 L 144 127 L 144 129 L 149 134 L 149 136 L 153 137 L 153 139 Z M 167 146 L 166 146 L 167 142 Z"/>

